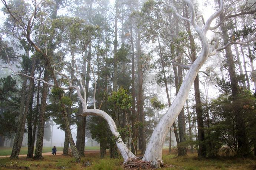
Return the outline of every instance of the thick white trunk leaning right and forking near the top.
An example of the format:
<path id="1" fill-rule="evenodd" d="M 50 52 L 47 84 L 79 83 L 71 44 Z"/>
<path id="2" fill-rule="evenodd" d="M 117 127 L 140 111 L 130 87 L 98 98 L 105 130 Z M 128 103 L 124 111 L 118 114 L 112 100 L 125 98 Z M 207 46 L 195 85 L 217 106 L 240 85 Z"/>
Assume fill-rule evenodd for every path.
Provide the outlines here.
<path id="1" fill-rule="evenodd" d="M 221 11 L 223 10 L 223 1 L 221 1 L 220 9 L 210 16 L 210 18 L 206 21 L 206 25 L 203 28 L 200 28 L 196 23 L 196 14 L 194 11 L 193 4 L 189 0 L 184 0 L 184 1 L 188 3 L 190 7 L 191 15 L 192 15 L 190 21 L 199 35 L 199 38 L 202 44 L 202 47 L 201 47 L 202 50 L 199 56 L 197 57 L 197 59 L 191 65 L 172 105 L 167 110 L 167 113 L 163 116 L 163 118 L 157 124 L 157 126 L 155 127 L 152 133 L 150 142 L 148 143 L 146 152 L 142 160 L 149 161 L 151 162 L 151 164 L 155 166 L 160 166 L 160 163 L 162 163 L 162 149 L 163 149 L 165 137 L 171 125 L 174 123 L 175 118 L 177 118 L 178 114 L 182 110 L 184 103 L 186 102 L 186 99 L 188 97 L 190 88 L 193 85 L 194 79 L 196 78 L 199 69 L 208 58 L 209 46 L 208 46 L 208 40 L 206 38 L 206 32 L 209 30 L 211 21 L 217 16 L 219 16 Z M 177 13 L 176 13 L 176 16 L 178 16 Z M 181 16 L 179 17 L 183 18 Z"/>

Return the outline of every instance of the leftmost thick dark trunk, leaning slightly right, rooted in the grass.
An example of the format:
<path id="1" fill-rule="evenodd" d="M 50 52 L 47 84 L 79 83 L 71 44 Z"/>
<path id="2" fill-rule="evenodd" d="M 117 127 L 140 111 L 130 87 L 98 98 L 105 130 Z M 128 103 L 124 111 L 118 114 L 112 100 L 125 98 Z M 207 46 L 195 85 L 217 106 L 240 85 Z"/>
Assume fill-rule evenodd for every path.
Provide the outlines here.
<path id="1" fill-rule="evenodd" d="M 28 68 L 24 68 L 24 74 L 27 74 Z M 13 141 L 13 149 L 12 149 L 12 154 L 10 158 L 13 159 L 18 159 L 19 153 L 20 153 L 20 148 L 22 146 L 22 140 L 23 140 L 23 135 L 24 135 L 24 128 L 25 128 L 25 122 L 26 122 L 26 117 L 24 115 L 24 106 L 25 106 L 25 98 L 26 98 L 26 88 L 27 88 L 27 76 L 23 77 L 23 84 L 22 84 L 22 91 L 21 91 L 21 97 L 20 97 L 20 114 L 18 117 L 17 121 L 17 129 L 16 129 L 16 134 L 14 137 Z"/>

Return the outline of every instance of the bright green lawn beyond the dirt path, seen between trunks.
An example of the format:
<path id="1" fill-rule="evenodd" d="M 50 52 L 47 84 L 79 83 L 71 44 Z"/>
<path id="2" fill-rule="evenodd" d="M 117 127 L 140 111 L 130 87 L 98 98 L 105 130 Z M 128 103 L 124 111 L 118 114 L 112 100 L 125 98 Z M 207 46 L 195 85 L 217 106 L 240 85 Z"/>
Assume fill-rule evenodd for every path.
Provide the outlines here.
<path id="1" fill-rule="evenodd" d="M 99 146 L 86 146 L 85 150 L 99 150 Z M 57 146 L 57 151 L 63 151 L 63 147 Z M 52 152 L 52 147 L 43 147 L 43 153 L 46 152 Z M 10 155 L 11 153 L 12 147 L 0 147 L 0 156 Z M 22 147 L 20 149 L 20 154 L 27 154 L 27 147 Z"/>

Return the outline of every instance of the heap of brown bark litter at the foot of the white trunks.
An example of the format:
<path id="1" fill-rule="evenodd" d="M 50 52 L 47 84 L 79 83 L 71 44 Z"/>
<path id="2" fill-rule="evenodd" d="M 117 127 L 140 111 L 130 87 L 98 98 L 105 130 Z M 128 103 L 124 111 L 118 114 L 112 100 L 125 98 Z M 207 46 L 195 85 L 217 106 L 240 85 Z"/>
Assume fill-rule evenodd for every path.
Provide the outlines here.
<path id="1" fill-rule="evenodd" d="M 123 164 L 125 170 L 139 170 L 139 169 L 147 169 L 147 170 L 154 170 L 157 167 L 152 166 L 150 162 L 143 161 L 139 158 L 128 160 L 127 163 Z M 168 164 L 161 164 L 160 167 L 175 167 L 174 165 Z"/>

